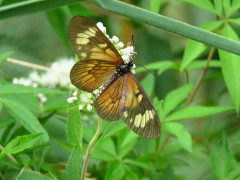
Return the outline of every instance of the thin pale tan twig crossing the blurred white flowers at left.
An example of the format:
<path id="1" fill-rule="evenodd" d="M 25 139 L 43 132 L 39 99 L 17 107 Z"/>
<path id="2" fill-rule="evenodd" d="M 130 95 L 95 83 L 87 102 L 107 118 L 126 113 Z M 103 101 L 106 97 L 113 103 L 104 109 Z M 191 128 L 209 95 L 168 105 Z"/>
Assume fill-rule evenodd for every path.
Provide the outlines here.
<path id="1" fill-rule="evenodd" d="M 55 69 L 52 69 L 52 68 L 49 68 L 49 67 L 46 67 L 46 66 L 38 65 L 38 64 L 33 64 L 33 63 L 25 62 L 25 61 L 20 61 L 20 60 L 13 59 L 13 58 L 7 58 L 7 62 L 17 64 L 17 65 L 20 65 L 20 66 L 39 69 L 39 70 L 43 70 L 43 71 L 52 71 L 52 72 L 55 72 L 55 73 L 63 74 L 65 76 L 69 76 L 68 74 L 66 74 L 65 72 L 62 72 L 62 71 L 58 71 L 58 70 L 55 70 Z"/>

